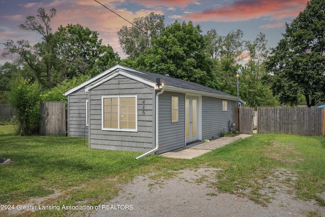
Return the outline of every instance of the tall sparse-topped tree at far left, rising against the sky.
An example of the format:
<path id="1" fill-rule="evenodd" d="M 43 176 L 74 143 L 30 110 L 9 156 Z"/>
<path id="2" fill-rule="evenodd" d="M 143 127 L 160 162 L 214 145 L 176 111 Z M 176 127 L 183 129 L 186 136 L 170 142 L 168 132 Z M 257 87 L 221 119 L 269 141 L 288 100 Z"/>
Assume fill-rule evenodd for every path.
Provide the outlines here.
<path id="1" fill-rule="evenodd" d="M 51 74 L 55 73 L 55 42 L 53 41 L 51 19 L 56 16 L 56 10 L 52 8 L 49 13 L 45 13 L 43 8 L 38 9 L 37 18 L 27 16 L 25 23 L 19 27 L 29 32 L 35 32 L 42 37 L 42 42 L 31 46 L 26 40 L 19 40 L 14 43 L 9 40 L 5 45 L 4 56 L 18 55 L 15 62 L 21 66 L 27 65 L 33 72 L 34 77 L 45 87 L 51 87 L 57 81 L 51 80 Z"/>

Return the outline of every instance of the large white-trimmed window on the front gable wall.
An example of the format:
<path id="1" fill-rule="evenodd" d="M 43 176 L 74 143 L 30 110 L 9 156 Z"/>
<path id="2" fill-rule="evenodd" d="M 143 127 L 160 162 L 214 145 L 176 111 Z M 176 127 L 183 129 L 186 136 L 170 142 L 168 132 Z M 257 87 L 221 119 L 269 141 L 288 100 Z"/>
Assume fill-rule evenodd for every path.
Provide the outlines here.
<path id="1" fill-rule="evenodd" d="M 136 95 L 102 97 L 102 130 L 136 132 L 137 121 Z"/>

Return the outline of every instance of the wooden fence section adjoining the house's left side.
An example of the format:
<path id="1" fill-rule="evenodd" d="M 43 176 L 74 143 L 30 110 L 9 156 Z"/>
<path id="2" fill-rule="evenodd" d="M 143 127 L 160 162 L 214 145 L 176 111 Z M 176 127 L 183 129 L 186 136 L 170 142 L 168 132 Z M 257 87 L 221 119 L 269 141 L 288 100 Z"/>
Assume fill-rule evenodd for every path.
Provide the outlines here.
<path id="1" fill-rule="evenodd" d="M 66 136 L 66 106 L 64 102 L 42 102 L 40 134 Z"/>

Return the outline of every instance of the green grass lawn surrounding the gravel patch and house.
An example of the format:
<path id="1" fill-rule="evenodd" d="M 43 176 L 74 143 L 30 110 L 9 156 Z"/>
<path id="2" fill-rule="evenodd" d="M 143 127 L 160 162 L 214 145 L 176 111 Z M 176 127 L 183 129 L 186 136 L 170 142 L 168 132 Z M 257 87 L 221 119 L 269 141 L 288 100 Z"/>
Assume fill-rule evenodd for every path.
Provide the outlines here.
<path id="1" fill-rule="evenodd" d="M 13 160 L 0 166 L 0 204 L 22 204 L 59 191 L 57 198 L 44 203 L 97 205 L 115 197 L 121 184 L 142 173 L 155 172 L 168 178 L 170 171 L 214 167 L 222 169 L 216 174 L 217 181 L 211 183 L 219 192 L 241 194 L 261 205 L 267 205 L 270 198 L 259 190 L 274 171 L 290 170 L 297 179 L 282 182 L 293 185 L 298 198 L 316 199 L 325 206 L 319 197 L 325 191 L 325 138 L 321 136 L 257 134 L 192 160 L 161 156 L 135 160 L 141 153 L 89 149 L 83 138 L 20 137 L 13 129 L 0 126 L 0 158 Z"/>

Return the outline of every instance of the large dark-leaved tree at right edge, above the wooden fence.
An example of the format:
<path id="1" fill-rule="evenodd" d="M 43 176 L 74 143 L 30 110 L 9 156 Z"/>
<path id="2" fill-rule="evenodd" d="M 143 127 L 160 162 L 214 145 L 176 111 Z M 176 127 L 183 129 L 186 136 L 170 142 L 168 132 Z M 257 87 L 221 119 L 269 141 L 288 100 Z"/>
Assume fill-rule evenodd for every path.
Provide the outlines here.
<path id="1" fill-rule="evenodd" d="M 325 101 L 325 2 L 311 0 L 272 50 L 267 70 L 282 103 L 295 105 L 299 94 L 308 107 Z"/>

